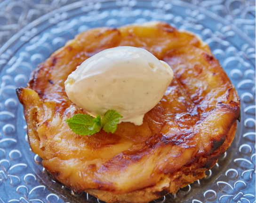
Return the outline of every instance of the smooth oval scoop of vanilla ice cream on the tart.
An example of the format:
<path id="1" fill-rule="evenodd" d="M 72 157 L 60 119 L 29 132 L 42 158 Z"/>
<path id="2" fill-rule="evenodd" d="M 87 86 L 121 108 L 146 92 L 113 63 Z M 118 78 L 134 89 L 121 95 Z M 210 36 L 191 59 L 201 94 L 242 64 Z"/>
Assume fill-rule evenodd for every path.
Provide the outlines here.
<path id="1" fill-rule="evenodd" d="M 106 49 L 85 60 L 65 81 L 69 99 L 93 117 L 118 111 L 120 122 L 143 123 L 146 112 L 163 97 L 170 66 L 136 47 Z"/>

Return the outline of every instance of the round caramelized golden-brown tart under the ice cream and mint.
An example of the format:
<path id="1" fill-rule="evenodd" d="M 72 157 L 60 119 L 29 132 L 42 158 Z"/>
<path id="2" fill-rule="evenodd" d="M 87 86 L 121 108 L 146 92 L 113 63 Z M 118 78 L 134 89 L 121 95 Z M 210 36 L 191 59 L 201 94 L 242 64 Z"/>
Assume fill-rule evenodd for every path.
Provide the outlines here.
<path id="1" fill-rule="evenodd" d="M 86 111 L 68 99 L 64 81 L 88 57 L 117 46 L 147 49 L 173 68 L 174 79 L 142 125 L 123 122 L 114 134 L 77 135 L 65 119 Z M 41 63 L 17 95 L 32 151 L 48 172 L 111 203 L 149 202 L 203 178 L 230 146 L 240 111 L 209 47 L 162 22 L 80 33 Z"/>

